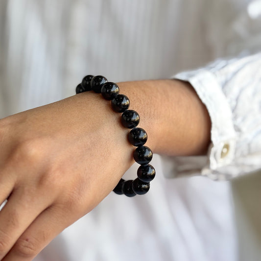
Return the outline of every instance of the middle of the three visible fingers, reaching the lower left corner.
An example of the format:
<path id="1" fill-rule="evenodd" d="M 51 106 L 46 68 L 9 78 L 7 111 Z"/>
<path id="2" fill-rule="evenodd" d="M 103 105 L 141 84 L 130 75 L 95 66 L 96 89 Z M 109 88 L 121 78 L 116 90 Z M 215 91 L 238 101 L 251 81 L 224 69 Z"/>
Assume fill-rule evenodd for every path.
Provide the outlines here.
<path id="1" fill-rule="evenodd" d="M 0 260 L 50 202 L 39 192 L 14 190 L 0 212 Z"/>

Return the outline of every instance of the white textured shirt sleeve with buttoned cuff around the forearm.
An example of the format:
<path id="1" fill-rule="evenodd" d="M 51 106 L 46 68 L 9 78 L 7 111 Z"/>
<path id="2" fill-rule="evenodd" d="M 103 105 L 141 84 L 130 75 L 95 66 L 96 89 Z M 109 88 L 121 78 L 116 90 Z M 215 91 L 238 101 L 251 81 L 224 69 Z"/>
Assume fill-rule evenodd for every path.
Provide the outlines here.
<path id="1" fill-rule="evenodd" d="M 261 53 L 219 59 L 173 78 L 189 81 L 206 105 L 211 144 L 207 156 L 162 156 L 166 177 L 227 180 L 261 168 Z"/>

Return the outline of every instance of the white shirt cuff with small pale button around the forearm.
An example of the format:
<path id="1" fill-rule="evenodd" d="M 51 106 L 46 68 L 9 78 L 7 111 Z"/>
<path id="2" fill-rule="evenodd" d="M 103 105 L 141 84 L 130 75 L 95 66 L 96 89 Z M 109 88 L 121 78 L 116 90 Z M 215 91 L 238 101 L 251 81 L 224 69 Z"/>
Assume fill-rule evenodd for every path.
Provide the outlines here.
<path id="1" fill-rule="evenodd" d="M 237 173 L 220 171 L 235 158 L 236 131 L 231 108 L 215 75 L 211 71 L 199 69 L 178 73 L 172 78 L 190 82 L 205 104 L 212 122 L 211 144 L 207 156 L 162 156 L 163 167 L 167 166 L 164 167 L 165 176 L 173 178 L 197 173 L 213 180 L 233 178 Z"/>

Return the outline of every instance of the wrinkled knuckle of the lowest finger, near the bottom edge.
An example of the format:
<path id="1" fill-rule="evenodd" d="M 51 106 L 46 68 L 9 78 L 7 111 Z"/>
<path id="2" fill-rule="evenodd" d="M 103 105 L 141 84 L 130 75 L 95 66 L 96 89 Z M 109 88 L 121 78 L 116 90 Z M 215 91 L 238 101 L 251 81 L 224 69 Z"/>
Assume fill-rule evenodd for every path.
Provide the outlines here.
<path id="1" fill-rule="evenodd" d="M 32 258 L 39 252 L 39 242 L 33 238 L 19 238 L 14 246 L 14 251 L 17 256 L 23 258 Z"/>

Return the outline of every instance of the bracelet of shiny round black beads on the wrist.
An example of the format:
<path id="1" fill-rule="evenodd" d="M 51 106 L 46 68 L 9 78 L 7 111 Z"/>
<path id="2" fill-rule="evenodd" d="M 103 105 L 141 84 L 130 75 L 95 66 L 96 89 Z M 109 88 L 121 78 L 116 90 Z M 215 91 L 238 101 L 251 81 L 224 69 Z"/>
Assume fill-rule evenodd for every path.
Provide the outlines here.
<path id="1" fill-rule="evenodd" d="M 136 194 L 145 194 L 150 188 L 150 181 L 155 177 L 155 169 L 149 165 L 152 159 L 152 151 L 144 146 L 147 141 L 147 134 L 142 128 L 136 128 L 140 122 L 139 114 L 134 110 L 128 110 L 130 106 L 129 98 L 119 94 L 119 87 L 114 82 L 108 82 L 104 76 L 87 75 L 76 87 L 76 94 L 95 91 L 101 93 L 106 100 L 111 100 L 112 108 L 115 112 L 122 113 L 121 123 L 124 127 L 132 129 L 128 134 L 129 142 L 136 146 L 133 158 L 141 166 L 138 168 L 138 178 L 135 180 L 120 179 L 118 185 L 113 190 L 117 194 L 125 194 L 133 197 Z"/>

